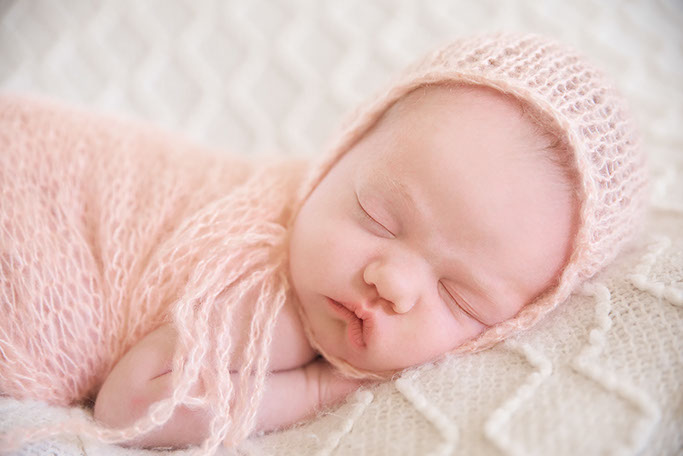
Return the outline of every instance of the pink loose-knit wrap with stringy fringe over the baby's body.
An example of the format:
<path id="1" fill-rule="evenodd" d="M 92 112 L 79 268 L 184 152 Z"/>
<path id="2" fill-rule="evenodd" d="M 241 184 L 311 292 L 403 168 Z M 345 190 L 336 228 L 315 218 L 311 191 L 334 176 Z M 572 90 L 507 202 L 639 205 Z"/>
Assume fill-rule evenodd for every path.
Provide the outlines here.
<path id="1" fill-rule="evenodd" d="M 0 96 L 0 392 L 92 400 L 144 335 L 165 321 L 178 331 L 173 396 L 136 426 L 74 419 L 0 435 L 0 449 L 61 432 L 127 440 L 180 404 L 214 417 L 202 452 L 246 438 L 287 299 L 286 222 L 303 171 L 291 159 L 254 166 L 149 126 Z M 250 344 L 238 348 L 231 304 L 247 293 L 258 298 Z M 200 381 L 204 396 L 190 397 Z"/>

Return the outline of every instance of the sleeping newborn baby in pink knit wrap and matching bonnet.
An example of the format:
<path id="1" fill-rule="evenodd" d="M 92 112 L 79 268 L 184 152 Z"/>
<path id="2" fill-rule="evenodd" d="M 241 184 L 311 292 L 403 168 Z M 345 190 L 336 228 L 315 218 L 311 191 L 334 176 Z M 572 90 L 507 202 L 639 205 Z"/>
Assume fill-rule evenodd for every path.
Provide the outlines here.
<path id="1" fill-rule="evenodd" d="M 68 153 L 96 155 L 74 138 Z M 48 299 L 23 291 L 29 281 L 14 271 L 2 277 L 12 291 L 2 297 L 11 317 L 0 323 L 0 391 L 95 401 L 95 422 L 22 438 L 81 432 L 212 453 L 291 426 L 369 381 L 530 328 L 614 258 L 644 201 L 643 158 L 615 89 L 574 51 L 533 35 L 463 39 L 431 53 L 355 112 L 315 165 L 188 164 L 184 146 L 169 153 L 137 136 L 99 144 L 112 141 L 129 151 L 117 163 L 152 182 L 124 185 L 131 194 L 115 204 L 111 189 L 99 200 L 133 202 L 134 234 L 130 215 L 103 228 L 107 209 L 87 198 L 106 186 L 82 178 L 77 188 L 89 196 L 79 211 L 56 210 L 62 232 L 83 230 L 62 237 L 80 240 L 82 250 L 66 251 L 86 256 L 61 267 L 77 278 Z M 154 166 L 130 152 L 155 147 Z M 115 163 L 94 160 L 95 170 Z M 47 193 L 54 204 L 79 195 Z M 17 233 L 23 219 L 2 211 L 5 232 Z M 88 225 L 93 213 L 98 223 Z M 2 236 L 5 249 L 12 238 Z M 15 251 L 3 271 L 18 264 Z M 88 304 L 87 316 L 74 301 Z M 66 317 L 17 310 L 45 302 Z M 36 350 L 7 325 L 28 315 L 48 319 L 34 334 L 87 330 L 73 341 L 62 331 L 60 355 L 21 367 Z M 74 354 L 83 342 L 102 348 Z M 65 375 L 59 362 L 75 359 L 81 367 Z"/>

